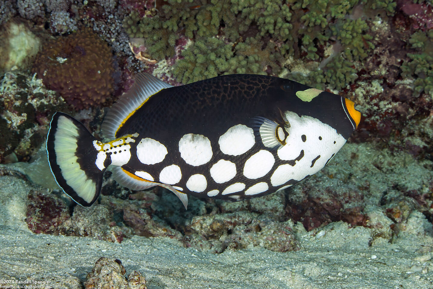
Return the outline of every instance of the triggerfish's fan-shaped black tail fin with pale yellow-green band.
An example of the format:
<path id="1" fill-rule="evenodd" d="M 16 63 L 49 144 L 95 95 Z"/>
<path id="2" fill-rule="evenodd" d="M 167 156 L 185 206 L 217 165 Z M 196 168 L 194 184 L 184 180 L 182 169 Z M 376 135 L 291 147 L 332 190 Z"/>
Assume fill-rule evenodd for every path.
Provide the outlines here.
<path id="1" fill-rule="evenodd" d="M 81 122 L 68 114 L 53 115 L 46 144 L 51 172 L 63 191 L 86 207 L 99 197 L 107 167 L 101 170 L 96 165 L 95 140 Z"/>

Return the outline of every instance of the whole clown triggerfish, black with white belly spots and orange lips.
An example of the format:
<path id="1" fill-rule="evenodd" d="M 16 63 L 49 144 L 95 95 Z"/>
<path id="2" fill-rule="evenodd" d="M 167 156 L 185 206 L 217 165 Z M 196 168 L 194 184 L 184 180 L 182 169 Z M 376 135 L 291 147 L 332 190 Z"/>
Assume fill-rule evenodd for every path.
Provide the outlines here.
<path id="1" fill-rule="evenodd" d="M 51 171 L 83 206 L 112 166 L 124 187 L 159 185 L 240 201 L 288 188 L 322 169 L 359 124 L 347 98 L 288 79 L 223 75 L 173 87 L 139 73 L 102 125 L 107 143 L 56 112 L 47 137 Z"/>

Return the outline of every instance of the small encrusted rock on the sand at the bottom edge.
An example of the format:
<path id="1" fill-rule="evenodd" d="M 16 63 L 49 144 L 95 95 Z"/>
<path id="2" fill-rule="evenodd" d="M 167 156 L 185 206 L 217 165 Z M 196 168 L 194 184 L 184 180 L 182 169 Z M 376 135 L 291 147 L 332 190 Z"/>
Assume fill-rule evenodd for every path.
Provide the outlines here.
<path id="1" fill-rule="evenodd" d="M 84 288 L 147 289 L 146 279 L 140 272 L 132 271 L 126 279 L 125 274 L 125 267 L 119 259 L 100 257 L 92 273 L 87 275 Z"/>

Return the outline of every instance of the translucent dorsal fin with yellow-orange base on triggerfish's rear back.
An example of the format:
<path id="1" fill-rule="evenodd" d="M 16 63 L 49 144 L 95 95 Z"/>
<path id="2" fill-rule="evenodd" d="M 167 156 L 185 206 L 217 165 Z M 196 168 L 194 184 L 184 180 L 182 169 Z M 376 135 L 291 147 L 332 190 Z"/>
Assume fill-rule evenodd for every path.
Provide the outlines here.
<path id="1" fill-rule="evenodd" d="M 116 132 L 125 121 L 139 109 L 153 94 L 164 88 L 173 87 L 153 75 L 137 73 L 132 88 L 123 94 L 110 108 L 102 123 L 105 137 L 116 138 Z"/>

